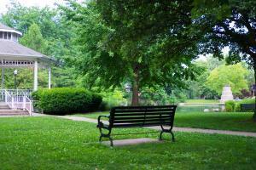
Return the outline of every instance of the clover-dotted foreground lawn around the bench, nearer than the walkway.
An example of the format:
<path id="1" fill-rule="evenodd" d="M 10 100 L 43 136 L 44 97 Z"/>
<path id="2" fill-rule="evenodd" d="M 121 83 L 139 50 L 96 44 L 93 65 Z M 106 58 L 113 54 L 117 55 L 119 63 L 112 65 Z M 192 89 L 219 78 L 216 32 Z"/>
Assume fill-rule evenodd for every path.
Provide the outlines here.
<path id="1" fill-rule="evenodd" d="M 113 133 L 147 132 L 146 128 Z M 151 131 L 151 130 L 150 130 Z M 256 138 L 175 133 L 175 143 L 108 147 L 96 124 L 55 117 L 0 118 L 0 169 L 255 169 Z M 114 139 L 157 138 L 158 133 Z M 170 139 L 168 135 L 166 139 Z"/>

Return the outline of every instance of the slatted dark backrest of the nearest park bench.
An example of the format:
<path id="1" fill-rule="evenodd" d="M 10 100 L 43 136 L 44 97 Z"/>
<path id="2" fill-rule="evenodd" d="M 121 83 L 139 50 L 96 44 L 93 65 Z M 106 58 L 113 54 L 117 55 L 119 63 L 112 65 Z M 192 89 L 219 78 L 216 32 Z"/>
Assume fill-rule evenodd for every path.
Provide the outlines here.
<path id="1" fill-rule="evenodd" d="M 177 105 L 114 107 L 110 127 L 173 126 Z"/>

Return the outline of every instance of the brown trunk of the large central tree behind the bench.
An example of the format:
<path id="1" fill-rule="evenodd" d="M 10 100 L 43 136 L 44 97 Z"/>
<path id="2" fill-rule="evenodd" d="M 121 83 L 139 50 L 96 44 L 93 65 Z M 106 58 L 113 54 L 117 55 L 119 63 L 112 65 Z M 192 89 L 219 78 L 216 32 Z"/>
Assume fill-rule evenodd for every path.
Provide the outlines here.
<path id="1" fill-rule="evenodd" d="M 132 106 L 139 105 L 138 91 L 139 91 L 139 66 L 135 65 L 133 68 L 132 99 L 131 99 Z"/>

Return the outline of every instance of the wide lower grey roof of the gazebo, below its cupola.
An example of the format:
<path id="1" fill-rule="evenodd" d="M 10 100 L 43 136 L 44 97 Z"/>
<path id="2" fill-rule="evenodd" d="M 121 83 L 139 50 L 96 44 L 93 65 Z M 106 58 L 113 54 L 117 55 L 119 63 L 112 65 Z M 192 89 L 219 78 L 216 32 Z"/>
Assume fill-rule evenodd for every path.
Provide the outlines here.
<path id="1" fill-rule="evenodd" d="M 31 48 L 26 48 L 18 42 L 0 39 L 0 59 L 39 59 L 41 61 L 54 61 L 44 54 Z"/>

